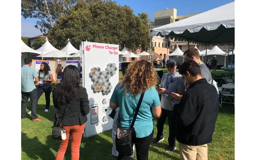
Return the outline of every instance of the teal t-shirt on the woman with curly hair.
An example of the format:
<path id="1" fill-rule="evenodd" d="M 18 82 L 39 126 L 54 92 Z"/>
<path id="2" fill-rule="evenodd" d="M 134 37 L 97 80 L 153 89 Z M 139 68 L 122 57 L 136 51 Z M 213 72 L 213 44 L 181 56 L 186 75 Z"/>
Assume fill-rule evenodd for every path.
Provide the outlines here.
<path id="1" fill-rule="evenodd" d="M 132 124 L 132 118 L 139 102 L 140 94 L 137 97 L 133 97 L 130 93 L 125 94 L 124 88 L 119 90 L 119 87 L 119 84 L 117 84 L 110 102 L 118 104 L 121 127 L 128 129 Z M 160 106 L 160 100 L 156 88 L 152 86 L 144 94 L 138 116 L 133 126 L 137 138 L 147 137 L 152 133 L 154 123 L 150 107 L 157 106 Z"/>

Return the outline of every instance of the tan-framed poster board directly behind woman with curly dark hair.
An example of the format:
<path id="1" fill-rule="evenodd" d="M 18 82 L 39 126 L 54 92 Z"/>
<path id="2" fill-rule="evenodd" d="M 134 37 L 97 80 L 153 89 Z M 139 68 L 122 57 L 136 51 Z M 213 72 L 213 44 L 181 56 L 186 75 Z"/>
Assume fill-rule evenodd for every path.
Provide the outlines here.
<path id="1" fill-rule="evenodd" d="M 57 62 L 55 60 L 32 60 L 32 65 L 31 67 L 36 69 L 36 72 L 38 70 L 40 70 L 40 65 L 42 62 L 46 62 L 47 64 L 49 64 L 50 68 L 51 68 L 51 72 L 52 72 L 52 77 L 53 77 L 53 83 L 56 83 L 56 64 Z"/>

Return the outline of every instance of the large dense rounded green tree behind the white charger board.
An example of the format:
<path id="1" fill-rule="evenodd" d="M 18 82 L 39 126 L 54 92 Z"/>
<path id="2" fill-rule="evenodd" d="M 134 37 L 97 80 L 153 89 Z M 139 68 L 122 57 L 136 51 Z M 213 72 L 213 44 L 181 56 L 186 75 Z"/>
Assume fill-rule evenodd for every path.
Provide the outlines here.
<path id="1" fill-rule="evenodd" d="M 86 39 L 90 42 L 125 44 L 132 51 L 149 48 L 149 29 L 143 19 L 127 6 L 110 0 L 78 0 L 66 15 L 61 16 L 48 38 L 55 47 L 64 47 L 67 39 L 79 49 Z"/>

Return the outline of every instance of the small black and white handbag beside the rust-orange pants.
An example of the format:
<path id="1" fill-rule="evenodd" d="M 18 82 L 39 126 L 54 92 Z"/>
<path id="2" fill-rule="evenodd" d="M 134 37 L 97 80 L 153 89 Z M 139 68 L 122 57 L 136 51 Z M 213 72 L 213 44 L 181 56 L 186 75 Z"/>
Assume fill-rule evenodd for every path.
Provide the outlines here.
<path id="1" fill-rule="evenodd" d="M 66 140 L 67 139 L 66 131 L 64 130 L 64 128 L 61 127 L 62 120 L 63 120 L 63 117 L 66 112 L 66 108 L 67 108 L 67 105 L 65 106 L 65 109 L 63 111 L 60 124 L 56 125 L 56 126 L 52 126 L 52 139 L 54 139 L 54 140 Z"/>

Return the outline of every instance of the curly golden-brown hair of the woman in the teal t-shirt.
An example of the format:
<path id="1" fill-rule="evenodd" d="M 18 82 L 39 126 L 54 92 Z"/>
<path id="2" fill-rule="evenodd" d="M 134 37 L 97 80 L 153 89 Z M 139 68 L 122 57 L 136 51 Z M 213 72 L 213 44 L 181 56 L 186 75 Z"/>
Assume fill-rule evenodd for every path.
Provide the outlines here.
<path id="1" fill-rule="evenodd" d="M 152 64 L 146 60 L 138 60 L 129 64 L 123 79 L 120 81 L 120 88 L 125 87 L 124 92 L 137 97 L 142 91 L 151 86 L 156 86 L 159 77 Z"/>

